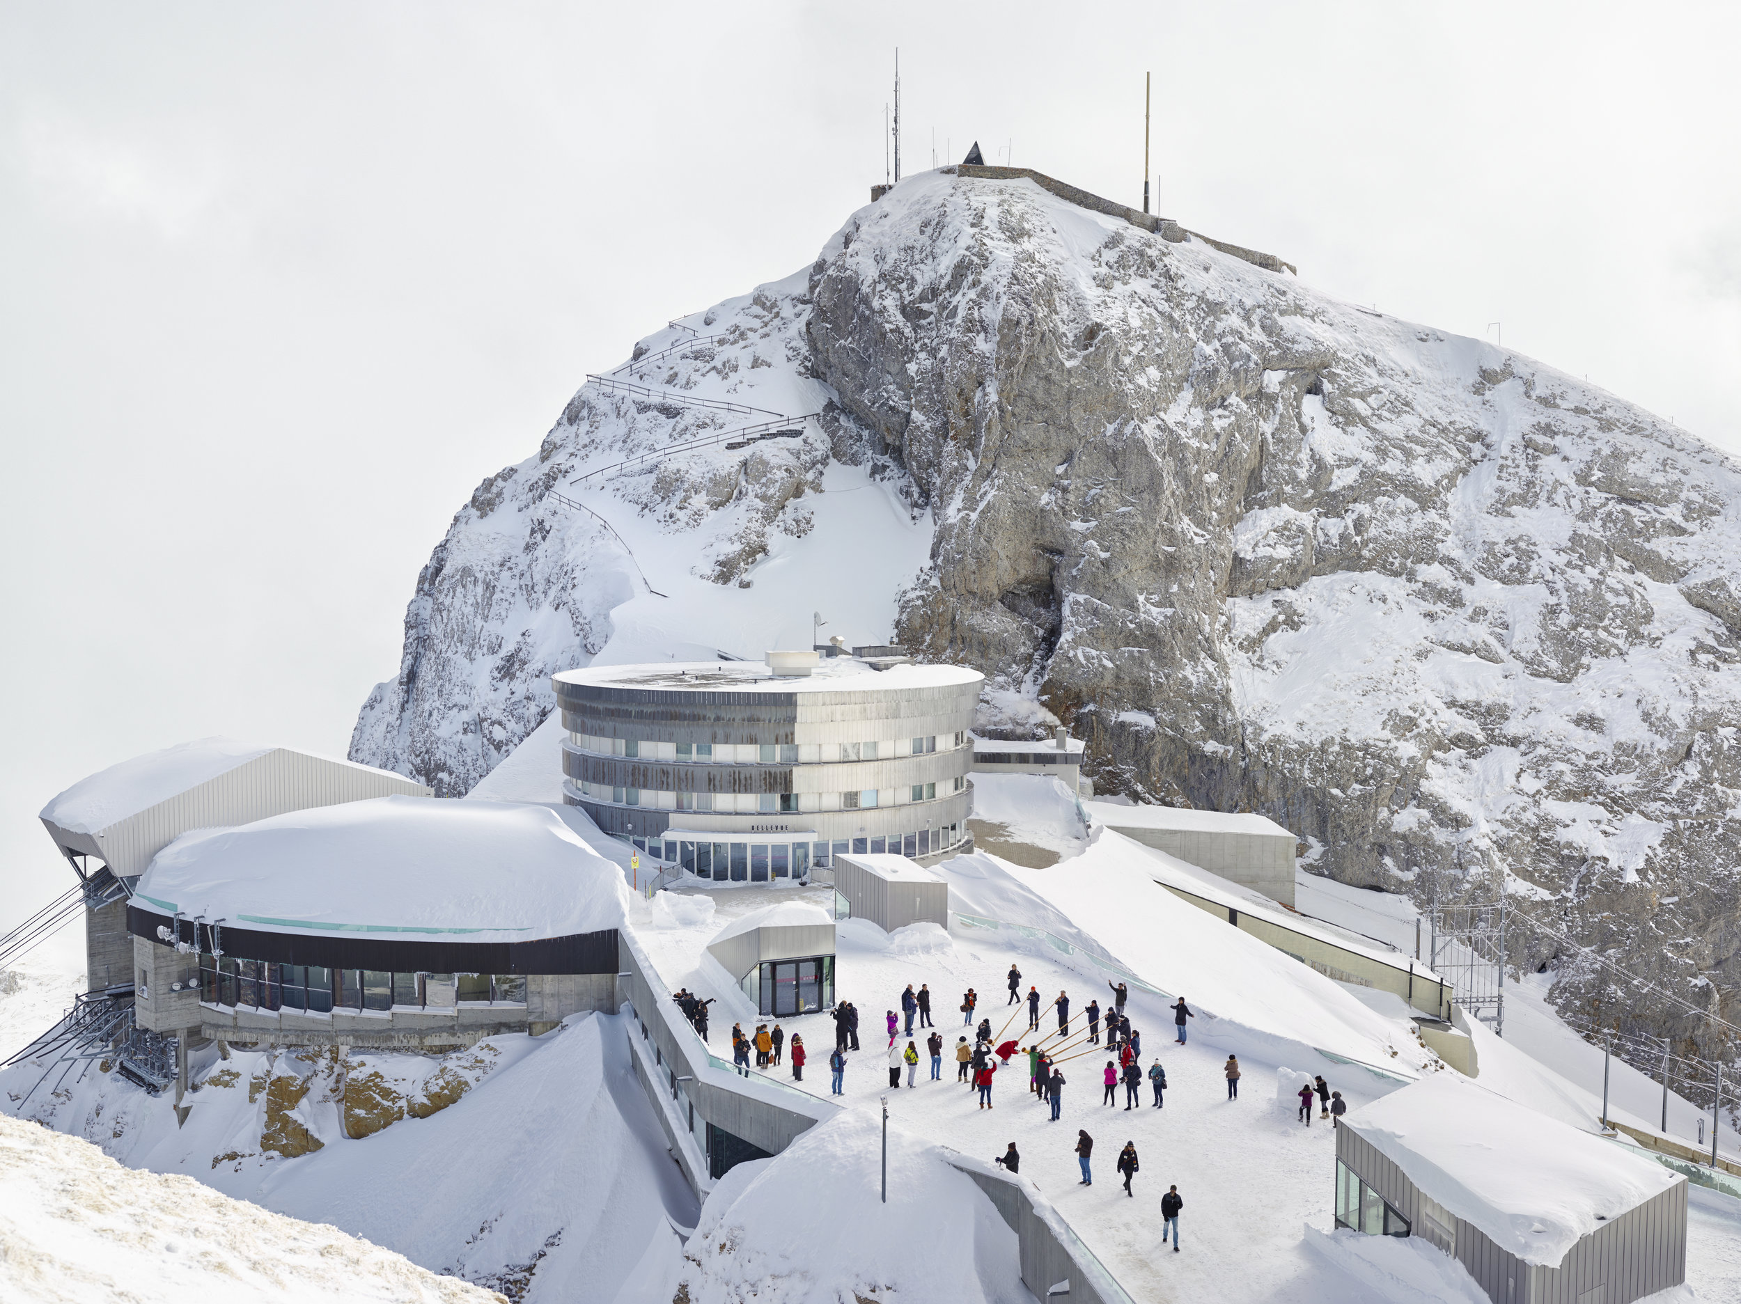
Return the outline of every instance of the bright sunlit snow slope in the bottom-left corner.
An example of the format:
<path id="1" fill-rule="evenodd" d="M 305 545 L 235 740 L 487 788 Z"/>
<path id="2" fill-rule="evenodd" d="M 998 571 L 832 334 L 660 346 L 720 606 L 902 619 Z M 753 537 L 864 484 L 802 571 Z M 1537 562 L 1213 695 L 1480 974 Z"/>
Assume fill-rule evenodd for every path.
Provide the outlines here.
<path id="1" fill-rule="evenodd" d="M 501 1301 L 336 1227 L 268 1213 L 192 1177 L 124 1168 L 85 1140 L 5 1116 L 0 1283 L 17 1304 Z"/>

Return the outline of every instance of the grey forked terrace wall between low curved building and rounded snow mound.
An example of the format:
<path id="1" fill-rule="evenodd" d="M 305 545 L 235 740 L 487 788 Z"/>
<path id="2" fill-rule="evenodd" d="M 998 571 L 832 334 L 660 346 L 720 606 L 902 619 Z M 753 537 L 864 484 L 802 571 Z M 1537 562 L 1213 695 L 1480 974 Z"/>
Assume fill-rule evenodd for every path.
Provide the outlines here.
<path id="1" fill-rule="evenodd" d="M 700 1194 L 712 1186 L 707 1168 L 695 1168 L 695 1156 L 709 1153 L 709 1128 L 749 1142 L 764 1154 L 778 1154 L 839 1106 L 776 1078 L 742 1076 L 729 1060 L 714 1055 L 670 999 L 670 987 L 629 930 L 618 935 L 618 991 L 629 998 L 635 1029 L 630 1052 L 637 1057 L 648 1093 L 667 1130 L 689 1186 Z M 639 1041 L 637 1045 L 637 1032 Z M 651 1046 L 651 1052 L 649 1052 Z M 651 1064 L 648 1064 L 651 1060 Z M 665 1097 L 684 1102 L 681 1116 Z M 679 1132 L 677 1128 L 684 1128 Z"/>

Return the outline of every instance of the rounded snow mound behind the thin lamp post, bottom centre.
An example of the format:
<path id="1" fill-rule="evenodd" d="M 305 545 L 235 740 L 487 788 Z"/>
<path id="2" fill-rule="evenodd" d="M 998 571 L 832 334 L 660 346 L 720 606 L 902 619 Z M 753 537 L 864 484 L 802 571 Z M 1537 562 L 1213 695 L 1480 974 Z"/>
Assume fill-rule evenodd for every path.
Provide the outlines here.
<path id="1" fill-rule="evenodd" d="M 874 1114 L 844 1111 L 728 1173 L 689 1238 L 689 1301 L 1029 1304 L 1015 1233 L 973 1180 L 890 1128 L 884 1205 L 881 1144 Z"/>

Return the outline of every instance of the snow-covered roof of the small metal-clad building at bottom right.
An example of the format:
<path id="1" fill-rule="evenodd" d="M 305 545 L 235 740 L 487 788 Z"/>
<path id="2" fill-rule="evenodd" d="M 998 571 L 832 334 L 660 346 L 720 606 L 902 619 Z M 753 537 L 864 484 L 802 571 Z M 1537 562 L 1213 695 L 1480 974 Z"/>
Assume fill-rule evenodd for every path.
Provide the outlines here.
<path id="1" fill-rule="evenodd" d="M 1501 1250 L 1548 1267 L 1603 1220 L 1687 1180 L 1454 1072 L 1342 1121 Z"/>

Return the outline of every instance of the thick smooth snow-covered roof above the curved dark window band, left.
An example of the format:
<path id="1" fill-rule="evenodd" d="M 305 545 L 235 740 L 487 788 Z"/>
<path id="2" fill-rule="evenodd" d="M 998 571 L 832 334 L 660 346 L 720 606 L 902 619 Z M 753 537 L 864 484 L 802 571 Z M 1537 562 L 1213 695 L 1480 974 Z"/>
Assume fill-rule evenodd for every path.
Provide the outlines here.
<path id="1" fill-rule="evenodd" d="M 543 806 L 376 797 L 183 834 L 134 900 L 282 933 L 529 942 L 618 928 L 625 893 Z"/>

